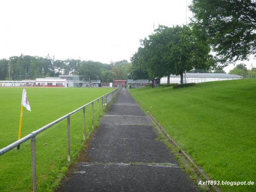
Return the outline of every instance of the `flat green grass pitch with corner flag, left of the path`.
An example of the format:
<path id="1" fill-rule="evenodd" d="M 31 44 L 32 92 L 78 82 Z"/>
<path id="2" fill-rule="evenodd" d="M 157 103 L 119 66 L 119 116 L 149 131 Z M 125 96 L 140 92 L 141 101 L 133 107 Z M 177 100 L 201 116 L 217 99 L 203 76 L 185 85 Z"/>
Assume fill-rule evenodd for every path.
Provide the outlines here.
<path id="1" fill-rule="evenodd" d="M 0 148 L 17 140 L 22 89 L 0 88 Z M 22 137 L 110 92 L 108 88 L 26 88 L 32 112 L 24 109 Z M 100 100 L 101 105 L 101 100 Z M 101 108 L 100 108 L 101 110 Z M 86 108 L 87 136 L 91 130 L 91 105 Z M 83 111 L 70 117 L 71 160 L 83 147 Z M 97 102 L 94 119 L 97 121 Z M 32 191 L 30 140 L 0 156 L 0 191 Z M 67 120 L 36 137 L 37 189 L 52 191 L 67 171 Z"/>

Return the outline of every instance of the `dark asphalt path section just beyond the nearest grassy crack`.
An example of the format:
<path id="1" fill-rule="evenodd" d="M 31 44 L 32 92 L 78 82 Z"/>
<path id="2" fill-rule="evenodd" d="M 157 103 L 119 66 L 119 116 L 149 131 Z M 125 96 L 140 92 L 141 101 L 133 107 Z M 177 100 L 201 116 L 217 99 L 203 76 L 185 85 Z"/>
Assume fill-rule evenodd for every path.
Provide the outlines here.
<path id="1" fill-rule="evenodd" d="M 178 164 L 172 152 L 163 142 L 157 141 L 157 137 L 157 133 L 151 126 L 101 125 L 101 128 L 96 129 L 93 134 L 90 148 L 87 149 L 85 156 L 91 162 Z"/>

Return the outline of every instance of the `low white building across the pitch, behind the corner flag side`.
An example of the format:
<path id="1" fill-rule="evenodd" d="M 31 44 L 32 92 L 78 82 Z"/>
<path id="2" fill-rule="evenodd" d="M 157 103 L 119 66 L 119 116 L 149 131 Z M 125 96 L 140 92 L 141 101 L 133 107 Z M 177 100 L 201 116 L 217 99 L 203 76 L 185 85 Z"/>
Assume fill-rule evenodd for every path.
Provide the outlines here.
<path id="1" fill-rule="evenodd" d="M 67 79 L 59 78 L 37 78 L 35 79 L 35 85 L 38 87 L 67 87 Z"/>

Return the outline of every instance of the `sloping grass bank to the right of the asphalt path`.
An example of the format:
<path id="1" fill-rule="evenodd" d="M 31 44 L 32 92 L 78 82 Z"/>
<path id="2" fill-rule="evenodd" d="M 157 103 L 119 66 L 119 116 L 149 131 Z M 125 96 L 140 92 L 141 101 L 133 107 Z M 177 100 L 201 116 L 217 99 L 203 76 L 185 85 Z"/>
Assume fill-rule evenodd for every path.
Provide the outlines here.
<path id="1" fill-rule="evenodd" d="M 255 79 L 130 91 L 212 180 L 256 182 Z M 241 192 L 255 185 L 219 187 Z"/>

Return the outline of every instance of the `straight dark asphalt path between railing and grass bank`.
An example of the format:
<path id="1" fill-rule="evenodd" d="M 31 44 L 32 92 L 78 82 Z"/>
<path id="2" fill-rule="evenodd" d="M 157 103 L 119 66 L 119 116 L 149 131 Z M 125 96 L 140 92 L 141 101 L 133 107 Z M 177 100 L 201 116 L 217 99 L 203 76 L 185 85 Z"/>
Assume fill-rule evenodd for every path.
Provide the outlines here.
<path id="1" fill-rule="evenodd" d="M 128 90 L 121 90 L 58 192 L 194 192 Z"/>

